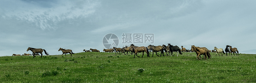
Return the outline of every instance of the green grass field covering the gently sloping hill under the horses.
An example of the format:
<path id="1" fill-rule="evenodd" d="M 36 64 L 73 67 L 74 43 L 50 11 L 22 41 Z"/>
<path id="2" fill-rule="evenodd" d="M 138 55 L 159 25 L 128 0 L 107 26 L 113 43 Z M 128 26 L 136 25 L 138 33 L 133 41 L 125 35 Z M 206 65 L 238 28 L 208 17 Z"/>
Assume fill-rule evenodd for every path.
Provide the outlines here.
<path id="1" fill-rule="evenodd" d="M 160 55 L 160 52 L 158 53 Z M 196 53 L 138 58 L 105 52 L 0 57 L 1 83 L 251 83 L 256 82 L 256 55 L 215 56 L 197 60 Z M 174 52 L 177 55 L 177 52 Z M 138 56 L 142 56 L 139 53 Z M 145 69 L 143 72 L 137 69 Z"/>

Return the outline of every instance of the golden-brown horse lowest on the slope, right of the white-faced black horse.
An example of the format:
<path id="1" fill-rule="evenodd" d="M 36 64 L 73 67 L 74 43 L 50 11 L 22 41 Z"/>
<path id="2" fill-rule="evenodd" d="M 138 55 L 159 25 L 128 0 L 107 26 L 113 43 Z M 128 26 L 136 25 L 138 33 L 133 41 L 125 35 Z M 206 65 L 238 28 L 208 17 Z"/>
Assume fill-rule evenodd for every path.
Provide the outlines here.
<path id="1" fill-rule="evenodd" d="M 208 49 L 200 48 L 200 47 L 195 47 L 194 45 L 191 46 L 191 50 L 192 51 L 196 51 L 196 55 L 197 55 L 196 58 L 198 58 L 198 60 L 200 60 L 200 58 L 201 58 L 200 55 L 205 55 L 205 60 L 207 60 L 206 57 L 210 55 Z M 199 56 L 200 56 L 200 58 L 199 58 Z"/>

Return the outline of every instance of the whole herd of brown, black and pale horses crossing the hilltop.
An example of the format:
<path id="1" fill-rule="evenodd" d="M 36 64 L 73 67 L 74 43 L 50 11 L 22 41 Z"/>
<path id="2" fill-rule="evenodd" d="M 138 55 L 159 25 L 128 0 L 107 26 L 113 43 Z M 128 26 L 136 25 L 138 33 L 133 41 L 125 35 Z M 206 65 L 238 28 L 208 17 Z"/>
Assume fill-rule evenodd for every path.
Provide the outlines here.
<path id="1" fill-rule="evenodd" d="M 29 50 L 32 51 L 33 53 L 32 54 L 24 53 L 24 55 L 22 55 L 22 56 L 33 55 L 33 58 L 35 58 L 36 55 L 39 55 L 38 53 L 40 53 L 41 57 L 42 57 L 43 52 L 46 55 L 49 55 L 49 53 L 46 52 L 46 50 L 41 49 L 41 48 L 37 49 L 37 48 L 29 47 L 27 49 L 27 51 L 29 51 Z M 71 57 L 72 57 L 72 54 L 74 54 L 72 52 L 72 50 L 69 50 L 69 49 L 66 50 L 66 49 L 60 48 L 58 51 L 62 51 L 63 54 L 65 54 L 65 57 L 66 57 L 66 53 L 71 54 Z M 83 51 L 85 51 L 85 52 L 100 52 L 97 49 L 91 49 L 91 48 L 90 48 L 90 50 L 83 50 Z M 137 57 L 140 57 L 140 56 L 137 55 L 138 52 L 142 52 L 142 57 L 141 58 L 143 58 L 144 52 L 146 52 L 147 57 L 150 57 L 149 52 L 153 53 L 152 57 L 154 56 L 154 52 L 155 52 L 156 55 L 157 55 L 157 52 L 160 52 L 160 56 L 162 56 L 162 54 L 164 56 L 164 51 L 166 52 L 167 56 L 168 55 L 174 56 L 173 52 L 177 52 L 177 56 L 179 56 L 178 54 L 182 55 L 182 52 L 196 52 L 196 59 L 198 59 L 198 60 L 202 59 L 201 55 L 204 55 L 203 58 L 205 60 L 207 60 L 207 58 L 210 59 L 211 58 L 210 52 L 216 52 L 215 56 L 217 56 L 217 53 L 218 53 L 218 55 L 219 55 L 219 53 L 221 53 L 221 56 L 223 56 L 222 53 L 225 54 L 225 52 L 226 52 L 226 55 L 227 55 L 227 53 L 229 53 L 229 55 L 230 55 L 230 53 L 231 53 L 231 55 L 232 55 L 232 53 L 233 54 L 235 53 L 236 55 L 239 55 L 239 52 L 238 52 L 237 48 L 232 48 L 232 46 L 230 46 L 230 45 L 226 45 L 225 52 L 222 48 L 217 48 L 217 47 L 214 47 L 214 50 L 208 50 L 206 47 L 196 47 L 196 46 L 192 45 L 191 50 L 187 50 L 186 48 L 183 48 L 183 46 L 181 46 L 181 49 L 180 49 L 177 45 L 173 46 L 171 44 L 168 44 L 168 46 L 166 46 L 164 44 L 162 46 L 160 46 L 160 45 L 159 46 L 149 45 L 147 47 L 144 47 L 144 46 L 138 47 L 138 46 L 135 46 L 134 44 L 131 44 L 129 47 L 128 46 L 123 47 L 123 48 L 113 47 L 113 49 L 103 49 L 103 51 L 104 52 L 115 52 L 115 54 L 119 52 L 118 54 L 124 53 L 124 55 L 126 55 L 126 54 L 128 55 L 128 52 L 131 53 L 131 55 L 134 53 L 133 58 L 135 58 L 135 55 Z M 126 54 L 125 54 L 125 52 L 126 52 Z M 63 56 L 63 54 L 61 56 Z M 13 54 L 13 56 L 21 56 L 21 55 Z M 159 55 L 157 55 L 157 56 L 160 57 Z"/>

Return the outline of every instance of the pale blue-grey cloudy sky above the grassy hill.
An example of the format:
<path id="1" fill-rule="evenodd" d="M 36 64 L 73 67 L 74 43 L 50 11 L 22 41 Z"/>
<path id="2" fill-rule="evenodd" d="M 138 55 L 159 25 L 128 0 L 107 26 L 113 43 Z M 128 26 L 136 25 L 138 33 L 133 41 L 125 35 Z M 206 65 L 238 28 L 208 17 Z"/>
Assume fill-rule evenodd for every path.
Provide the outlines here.
<path id="1" fill-rule="evenodd" d="M 102 52 L 115 39 L 117 47 L 230 45 L 256 54 L 255 10 L 255 0 L 0 0 L 0 56 L 32 54 L 28 47 Z"/>

